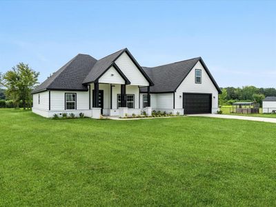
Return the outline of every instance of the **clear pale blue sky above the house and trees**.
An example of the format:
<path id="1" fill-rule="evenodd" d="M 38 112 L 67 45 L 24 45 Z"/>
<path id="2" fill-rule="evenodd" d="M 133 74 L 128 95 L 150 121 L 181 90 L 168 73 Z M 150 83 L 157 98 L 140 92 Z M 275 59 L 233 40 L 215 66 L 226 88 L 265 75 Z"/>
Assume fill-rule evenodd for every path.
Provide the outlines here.
<path id="1" fill-rule="evenodd" d="M 78 53 L 141 66 L 201 56 L 221 87 L 276 88 L 276 1 L 1 1 L 0 72 L 43 81 Z"/>

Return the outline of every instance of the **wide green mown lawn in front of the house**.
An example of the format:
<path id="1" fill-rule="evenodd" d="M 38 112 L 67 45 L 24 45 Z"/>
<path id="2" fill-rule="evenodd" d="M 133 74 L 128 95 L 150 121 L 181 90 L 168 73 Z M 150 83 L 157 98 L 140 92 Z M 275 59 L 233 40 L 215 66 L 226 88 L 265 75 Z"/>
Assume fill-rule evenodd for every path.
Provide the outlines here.
<path id="1" fill-rule="evenodd" d="M 276 205 L 276 124 L 0 117 L 0 206 Z"/>

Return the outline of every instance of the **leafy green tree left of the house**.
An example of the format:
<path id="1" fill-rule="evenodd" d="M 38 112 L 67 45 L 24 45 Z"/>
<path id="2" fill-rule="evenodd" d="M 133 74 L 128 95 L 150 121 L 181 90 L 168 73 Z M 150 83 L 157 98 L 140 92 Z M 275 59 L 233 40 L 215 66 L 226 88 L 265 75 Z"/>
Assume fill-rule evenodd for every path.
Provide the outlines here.
<path id="1" fill-rule="evenodd" d="M 19 106 L 22 100 L 23 108 L 31 106 L 32 96 L 30 92 L 37 86 L 39 72 L 35 72 L 28 64 L 19 63 L 1 76 L 1 84 L 7 88 L 6 95 L 14 102 L 14 108 Z"/>

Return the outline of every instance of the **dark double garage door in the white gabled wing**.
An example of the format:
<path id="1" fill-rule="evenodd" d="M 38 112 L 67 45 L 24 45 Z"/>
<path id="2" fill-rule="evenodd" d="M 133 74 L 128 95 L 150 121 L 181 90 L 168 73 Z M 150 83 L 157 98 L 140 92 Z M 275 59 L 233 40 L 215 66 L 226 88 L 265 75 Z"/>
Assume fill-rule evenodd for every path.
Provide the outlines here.
<path id="1" fill-rule="evenodd" d="M 185 115 L 208 114 L 211 112 L 212 95 L 206 93 L 183 93 Z"/>

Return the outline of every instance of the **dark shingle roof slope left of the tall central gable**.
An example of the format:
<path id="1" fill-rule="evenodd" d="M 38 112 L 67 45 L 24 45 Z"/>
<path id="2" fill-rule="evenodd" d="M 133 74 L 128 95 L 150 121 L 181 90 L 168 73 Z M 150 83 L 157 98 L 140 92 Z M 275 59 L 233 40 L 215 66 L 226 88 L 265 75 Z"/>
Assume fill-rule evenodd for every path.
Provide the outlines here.
<path id="1" fill-rule="evenodd" d="M 83 83 L 91 83 L 98 79 L 99 76 L 102 75 L 103 72 L 105 72 L 125 50 L 126 48 L 99 59 L 93 66 L 92 70 L 90 70 L 87 77 L 83 80 Z"/>

